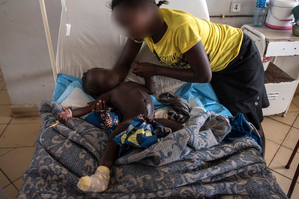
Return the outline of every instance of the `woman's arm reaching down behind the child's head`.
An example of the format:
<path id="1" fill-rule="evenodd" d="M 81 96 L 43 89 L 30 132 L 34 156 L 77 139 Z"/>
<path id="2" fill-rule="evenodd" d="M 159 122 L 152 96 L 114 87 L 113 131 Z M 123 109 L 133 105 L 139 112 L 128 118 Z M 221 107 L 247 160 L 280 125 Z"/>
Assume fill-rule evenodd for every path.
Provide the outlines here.
<path id="1" fill-rule="evenodd" d="M 121 57 L 114 67 L 114 70 L 119 75 L 119 81 L 123 82 L 127 77 L 131 63 L 140 51 L 141 46 L 142 43 L 136 43 L 132 39 L 128 38 L 127 43 L 123 48 Z"/>

